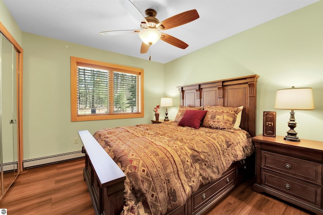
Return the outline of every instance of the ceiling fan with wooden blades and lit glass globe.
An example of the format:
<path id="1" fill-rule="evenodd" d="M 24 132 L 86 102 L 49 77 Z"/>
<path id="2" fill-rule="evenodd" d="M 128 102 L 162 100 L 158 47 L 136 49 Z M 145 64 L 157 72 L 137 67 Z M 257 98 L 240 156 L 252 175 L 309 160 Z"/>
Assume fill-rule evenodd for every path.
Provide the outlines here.
<path id="1" fill-rule="evenodd" d="M 100 32 L 101 35 L 139 33 L 139 37 L 142 40 L 140 53 L 146 53 L 149 50 L 150 45 L 156 43 L 159 39 L 182 49 L 188 47 L 188 44 L 182 40 L 160 31 L 175 28 L 198 19 L 199 15 L 195 9 L 177 14 L 159 22 L 159 20 L 156 18 L 157 12 L 155 10 L 147 9 L 145 11 L 146 17 L 144 17 L 130 0 L 121 0 L 119 2 L 136 20 L 141 21 L 141 29 L 103 31 Z"/>

